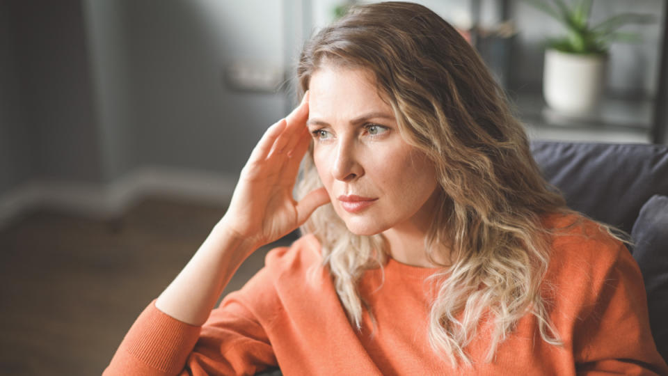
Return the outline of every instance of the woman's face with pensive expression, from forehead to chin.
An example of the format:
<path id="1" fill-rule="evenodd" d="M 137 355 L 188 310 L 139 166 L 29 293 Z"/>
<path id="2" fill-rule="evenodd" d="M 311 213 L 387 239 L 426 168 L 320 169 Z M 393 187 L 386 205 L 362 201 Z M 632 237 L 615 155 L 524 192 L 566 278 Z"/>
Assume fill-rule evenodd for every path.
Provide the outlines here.
<path id="1" fill-rule="evenodd" d="M 436 197 L 434 165 L 401 137 L 374 76 L 324 67 L 312 75 L 309 93 L 315 166 L 348 229 L 358 235 L 427 230 Z"/>

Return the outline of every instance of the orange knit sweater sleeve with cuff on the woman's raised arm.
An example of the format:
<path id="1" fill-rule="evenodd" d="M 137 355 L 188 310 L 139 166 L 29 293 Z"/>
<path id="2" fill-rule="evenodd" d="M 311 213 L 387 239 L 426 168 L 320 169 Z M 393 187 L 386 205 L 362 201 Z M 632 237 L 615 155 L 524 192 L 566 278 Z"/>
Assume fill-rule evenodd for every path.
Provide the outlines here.
<path id="1" fill-rule="evenodd" d="M 276 366 L 266 331 L 279 309 L 272 274 L 265 266 L 225 296 L 201 327 L 170 317 L 152 301 L 103 375 L 253 375 Z"/>

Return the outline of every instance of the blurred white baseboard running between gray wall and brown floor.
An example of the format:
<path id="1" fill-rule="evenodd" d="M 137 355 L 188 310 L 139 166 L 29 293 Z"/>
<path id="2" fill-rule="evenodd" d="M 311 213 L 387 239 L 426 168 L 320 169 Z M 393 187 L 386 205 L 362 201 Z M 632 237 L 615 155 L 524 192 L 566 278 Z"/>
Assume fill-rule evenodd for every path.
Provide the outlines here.
<path id="1" fill-rule="evenodd" d="M 0 228 L 35 207 L 111 219 L 150 195 L 227 205 L 237 178 L 237 175 L 145 167 L 108 184 L 33 180 L 0 195 Z"/>

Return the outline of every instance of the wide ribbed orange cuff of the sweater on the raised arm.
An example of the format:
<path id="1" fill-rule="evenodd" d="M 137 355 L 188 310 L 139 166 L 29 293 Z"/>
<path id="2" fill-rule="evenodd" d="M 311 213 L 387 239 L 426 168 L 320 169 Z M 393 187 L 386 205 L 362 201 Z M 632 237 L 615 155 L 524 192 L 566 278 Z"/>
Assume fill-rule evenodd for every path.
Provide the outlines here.
<path id="1" fill-rule="evenodd" d="M 132 324 L 104 375 L 177 375 L 201 329 L 160 311 L 153 300 Z"/>

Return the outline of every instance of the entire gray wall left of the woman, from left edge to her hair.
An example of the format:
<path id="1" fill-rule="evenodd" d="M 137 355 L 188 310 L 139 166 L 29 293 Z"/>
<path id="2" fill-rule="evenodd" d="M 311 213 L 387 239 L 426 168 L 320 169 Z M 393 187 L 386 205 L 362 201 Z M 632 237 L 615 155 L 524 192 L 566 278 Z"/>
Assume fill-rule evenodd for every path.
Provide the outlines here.
<path id="1" fill-rule="evenodd" d="M 31 178 L 109 182 L 143 165 L 236 175 L 292 100 L 233 91 L 223 72 L 239 58 L 288 61 L 291 6 L 1 0 L 0 195 Z"/>

